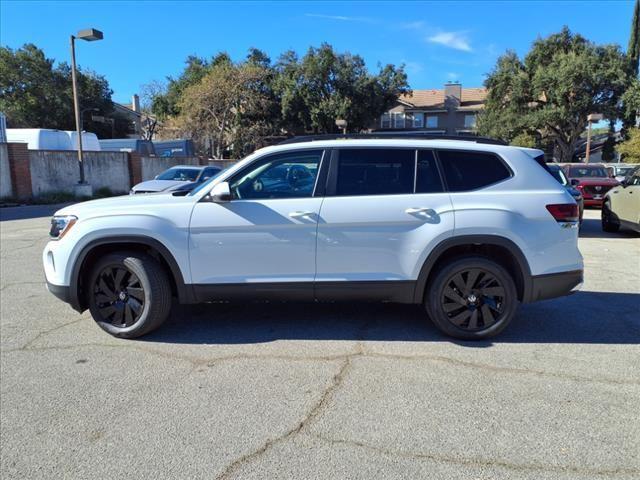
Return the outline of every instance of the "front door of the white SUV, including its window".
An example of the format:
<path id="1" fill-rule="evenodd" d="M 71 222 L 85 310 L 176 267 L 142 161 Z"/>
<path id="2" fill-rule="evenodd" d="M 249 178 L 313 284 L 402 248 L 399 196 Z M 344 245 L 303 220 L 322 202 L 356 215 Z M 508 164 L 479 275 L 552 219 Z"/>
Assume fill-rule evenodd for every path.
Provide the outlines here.
<path id="1" fill-rule="evenodd" d="M 228 180 L 230 202 L 198 203 L 190 224 L 192 282 L 312 285 L 322 157 L 322 150 L 267 155 Z"/>

